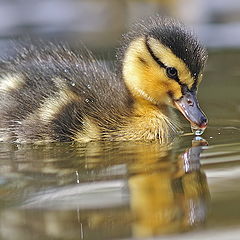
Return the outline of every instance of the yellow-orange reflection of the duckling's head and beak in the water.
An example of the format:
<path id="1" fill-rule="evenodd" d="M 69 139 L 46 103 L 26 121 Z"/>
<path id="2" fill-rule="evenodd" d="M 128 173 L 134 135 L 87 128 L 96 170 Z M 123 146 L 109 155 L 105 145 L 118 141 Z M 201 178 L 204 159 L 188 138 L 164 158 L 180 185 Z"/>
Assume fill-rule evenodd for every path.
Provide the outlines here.
<path id="1" fill-rule="evenodd" d="M 171 162 L 169 168 L 129 178 L 134 237 L 186 231 L 205 222 L 209 190 L 199 162 L 205 144 L 193 142 L 179 155 L 180 168 Z"/>

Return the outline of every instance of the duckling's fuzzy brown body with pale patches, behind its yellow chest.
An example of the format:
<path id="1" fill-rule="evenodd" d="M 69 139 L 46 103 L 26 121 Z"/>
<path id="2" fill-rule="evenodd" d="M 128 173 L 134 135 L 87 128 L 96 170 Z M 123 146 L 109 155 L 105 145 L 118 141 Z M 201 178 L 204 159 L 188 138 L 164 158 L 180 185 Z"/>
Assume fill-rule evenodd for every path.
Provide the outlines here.
<path id="1" fill-rule="evenodd" d="M 2 141 L 101 139 L 130 112 L 124 82 L 87 50 L 30 45 L 0 63 Z"/>

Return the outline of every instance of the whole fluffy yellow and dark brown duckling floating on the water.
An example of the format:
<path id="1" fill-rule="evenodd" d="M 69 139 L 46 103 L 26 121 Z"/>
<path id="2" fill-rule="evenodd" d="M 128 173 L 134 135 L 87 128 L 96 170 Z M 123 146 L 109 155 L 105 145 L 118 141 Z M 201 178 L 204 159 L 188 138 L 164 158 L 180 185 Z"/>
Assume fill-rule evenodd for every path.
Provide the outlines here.
<path id="1" fill-rule="evenodd" d="M 177 20 L 155 16 L 123 36 L 115 69 L 88 50 L 29 44 L 0 62 L 1 141 L 159 140 L 179 132 L 172 109 L 196 129 L 205 48 Z"/>

